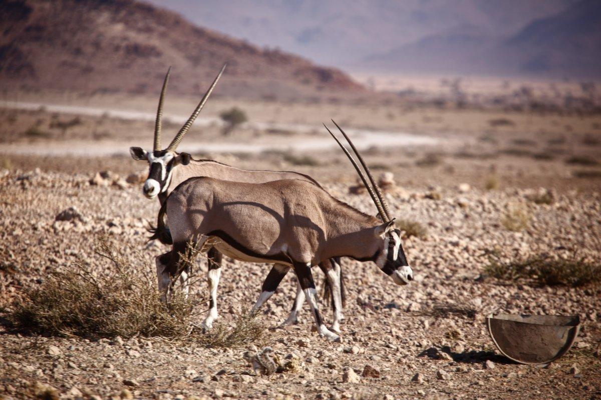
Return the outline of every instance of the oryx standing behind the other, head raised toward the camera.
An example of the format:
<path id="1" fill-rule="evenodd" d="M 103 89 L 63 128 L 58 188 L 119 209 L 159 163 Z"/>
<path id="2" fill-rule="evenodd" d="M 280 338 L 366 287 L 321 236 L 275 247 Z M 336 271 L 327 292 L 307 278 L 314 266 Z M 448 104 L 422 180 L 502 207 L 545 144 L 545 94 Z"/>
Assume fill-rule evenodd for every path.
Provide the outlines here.
<path id="1" fill-rule="evenodd" d="M 139 147 L 130 148 L 130 154 L 134 160 L 146 160 L 148 162 L 148 178 L 144 182 L 142 191 L 144 196 L 148 199 L 154 199 L 157 197 L 160 204 L 163 204 L 166 197 L 171 191 L 177 187 L 177 185 L 186 181 L 194 176 L 206 176 L 209 178 L 221 179 L 224 181 L 235 181 L 235 182 L 249 182 L 249 183 L 263 183 L 269 181 L 277 181 L 279 179 L 301 179 L 311 184 L 317 185 L 314 179 L 310 176 L 303 175 L 296 172 L 279 172 L 279 171 L 262 171 L 262 170 L 241 170 L 225 164 L 218 163 L 213 160 L 194 160 L 188 153 L 177 153 L 175 150 L 182 141 L 189 128 L 194 123 L 200 111 L 203 109 L 209 95 L 215 88 L 216 83 L 221 77 L 225 68 L 222 67 L 219 71 L 218 76 L 213 80 L 212 85 L 207 90 L 206 94 L 188 119 L 182 129 L 177 133 L 174 139 L 171 141 L 166 149 L 162 149 L 161 146 L 161 133 L 162 133 L 162 115 L 163 115 L 163 101 L 165 99 L 166 86 L 169 80 L 169 71 L 163 81 L 163 87 L 159 98 L 159 106 L 157 108 L 156 123 L 154 125 L 154 145 L 153 151 L 146 152 Z M 164 228 L 163 223 L 164 211 L 159 214 L 159 224 L 157 230 L 154 231 L 154 235 L 151 239 L 159 239 L 165 244 L 171 244 L 171 238 L 169 237 L 169 231 Z M 163 255 L 157 258 L 157 277 L 159 278 L 159 288 L 163 292 L 168 291 L 169 281 L 168 278 L 161 275 L 161 272 L 165 268 L 166 261 L 169 255 Z M 219 283 L 219 277 L 221 276 L 221 259 L 222 254 L 216 248 L 209 249 L 207 253 L 209 260 L 209 290 L 210 290 L 210 312 L 206 320 L 203 322 L 203 326 L 206 329 L 210 329 L 213 320 L 218 317 L 217 312 L 217 287 Z M 340 320 L 343 318 L 342 308 L 344 303 L 344 285 L 341 273 L 340 258 L 332 258 L 331 260 L 324 260 L 319 264 L 326 276 L 326 285 L 329 286 L 329 291 L 332 294 L 332 308 L 334 310 L 334 323 L 332 329 L 336 332 L 340 332 Z M 274 266 L 274 268 L 276 268 Z M 183 290 L 188 291 L 188 273 L 189 270 L 184 270 L 180 275 L 180 282 L 182 283 Z M 270 273 L 273 275 L 274 272 Z M 266 287 L 267 290 L 268 287 Z M 284 321 L 284 324 L 294 324 L 297 322 L 297 315 L 300 311 L 303 303 L 305 302 L 304 291 L 301 290 L 300 285 L 297 287 L 296 299 L 294 300 L 293 308 L 290 311 L 290 315 Z"/>

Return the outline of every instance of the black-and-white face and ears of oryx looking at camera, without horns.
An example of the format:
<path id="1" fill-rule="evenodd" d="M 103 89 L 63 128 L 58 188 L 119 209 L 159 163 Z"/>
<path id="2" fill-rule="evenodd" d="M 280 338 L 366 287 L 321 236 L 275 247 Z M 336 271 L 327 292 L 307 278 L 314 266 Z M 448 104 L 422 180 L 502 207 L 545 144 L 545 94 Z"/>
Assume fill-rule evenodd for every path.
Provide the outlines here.
<path id="1" fill-rule="evenodd" d="M 148 161 L 148 178 L 142 187 L 142 192 L 148 199 L 164 193 L 171 182 L 173 169 L 179 164 L 188 165 L 191 159 L 188 153 L 175 154 L 167 150 L 146 152 L 139 147 L 132 147 L 129 152 L 134 160 Z"/>

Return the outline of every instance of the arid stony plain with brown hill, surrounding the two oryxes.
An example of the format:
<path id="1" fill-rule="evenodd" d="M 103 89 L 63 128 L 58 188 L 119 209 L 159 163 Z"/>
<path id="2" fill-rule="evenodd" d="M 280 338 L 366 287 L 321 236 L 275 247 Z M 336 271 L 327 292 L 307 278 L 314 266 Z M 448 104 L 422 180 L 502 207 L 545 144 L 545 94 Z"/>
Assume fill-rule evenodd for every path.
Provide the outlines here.
<path id="1" fill-rule="evenodd" d="M 575 3 L 537 17 L 591 7 Z M 601 399 L 597 81 L 346 73 L 130 0 L 0 7 L 0 399 Z M 224 257 L 209 332 L 203 255 L 191 296 L 159 301 L 154 257 L 169 248 L 148 242 L 159 202 L 129 148 L 152 147 L 169 65 L 164 143 L 224 61 L 178 151 L 304 173 L 375 215 L 322 125 L 334 119 L 403 233 L 409 285 L 343 258 L 340 342 L 318 335 L 308 304 L 280 326 L 293 273 L 249 315 L 268 264 Z M 489 336 L 497 313 L 578 315 L 580 332 L 555 362 L 522 365 Z"/>

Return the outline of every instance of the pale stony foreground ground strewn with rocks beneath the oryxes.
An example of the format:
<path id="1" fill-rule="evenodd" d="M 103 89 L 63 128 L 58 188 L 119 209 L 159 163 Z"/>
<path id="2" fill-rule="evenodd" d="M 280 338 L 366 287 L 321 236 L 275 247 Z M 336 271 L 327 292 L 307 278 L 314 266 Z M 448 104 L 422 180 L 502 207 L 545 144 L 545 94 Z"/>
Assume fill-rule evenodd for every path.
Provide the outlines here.
<path id="1" fill-rule="evenodd" d="M 337 171 L 314 176 L 335 197 L 373 213 L 368 196 L 349 194 L 354 178 L 346 166 Z M 433 169 L 424 174 L 436 175 Z M 23 288 L 43 284 L 50 271 L 75 257 L 99 261 L 91 246 L 104 231 L 132 248 L 146 249 L 148 268 L 152 257 L 165 251 L 145 243 L 147 221 L 158 206 L 141 196 L 135 176 L 34 169 L 2 170 L 0 176 L 0 305 L 10 308 Z M 427 230 L 422 238 L 404 240 L 415 281 L 397 287 L 374 264 L 344 260 L 347 305 L 341 343 L 312 332 L 307 306 L 299 325 L 275 329 L 294 296 L 295 284 L 288 277 L 264 307 L 264 322 L 273 329 L 247 348 L 140 337 L 22 336 L 0 327 L 0 398 L 40 393 L 94 399 L 601 398 L 601 288 L 498 281 L 484 273 L 492 251 L 517 260 L 577 252 L 598 262 L 598 178 L 588 190 L 543 190 L 551 204 L 537 204 L 534 183 L 530 189 L 503 185 L 486 191 L 474 182 L 461 185 L 461 175 L 450 176 L 389 190 L 392 213 L 419 221 Z M 59 216 L 69 207 L 75 212 Z M 525 225 L 512 231 L 505 221 L 515 207 L 526 217 Z M 266 265 L 225 261 L 219 288 L 222 321 L 231 323 L 254 303 L 267 270 Z M 204 294 L 207 285 L 200 281 L 194 290 Z M 491 312 L 578 314 L 581 334 L 558 362 L 545 368 L 517 365 L 493 347 L 484 325 Z M 330 320 L 329 311 L 324 314 Z M 253 346 L 272 347 L 279 359 L 293 360 L 294 368 L 255 374 L 243 359 L 246 350 L 256 350 Z"/>

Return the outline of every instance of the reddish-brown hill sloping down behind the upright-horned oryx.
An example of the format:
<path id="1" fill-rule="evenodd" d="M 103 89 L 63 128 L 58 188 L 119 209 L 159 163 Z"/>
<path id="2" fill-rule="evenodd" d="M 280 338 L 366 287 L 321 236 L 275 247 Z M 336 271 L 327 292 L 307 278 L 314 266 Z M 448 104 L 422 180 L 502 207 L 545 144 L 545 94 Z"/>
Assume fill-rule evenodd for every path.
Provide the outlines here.
<path id="1" fill-rule="evenodd" d="M 133 0 L 0 1 L 3 88 L 195 94 L 227 61 L 218 94 L 298 98 L 364 90 L 334 68 L 201 28 Z"/>

